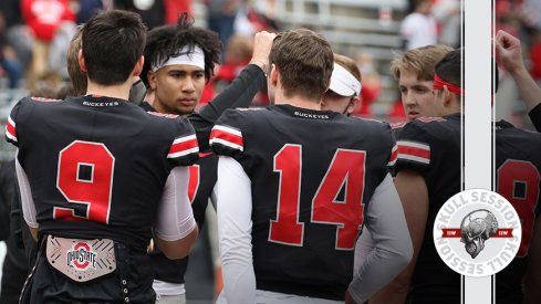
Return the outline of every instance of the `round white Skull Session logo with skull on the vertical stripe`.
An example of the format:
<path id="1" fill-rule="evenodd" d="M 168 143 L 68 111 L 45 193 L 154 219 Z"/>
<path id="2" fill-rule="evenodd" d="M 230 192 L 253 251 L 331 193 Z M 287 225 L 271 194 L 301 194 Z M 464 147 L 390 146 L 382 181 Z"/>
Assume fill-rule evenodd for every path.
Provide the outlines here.
<path id="1" fill-rule="evenodd" d="M 467 276 L 503 270 L 520 247 L 522 230 L 512 205 L 485 189 L 451 197 L 434 222 L 434 243 L 441 260 Z"/>

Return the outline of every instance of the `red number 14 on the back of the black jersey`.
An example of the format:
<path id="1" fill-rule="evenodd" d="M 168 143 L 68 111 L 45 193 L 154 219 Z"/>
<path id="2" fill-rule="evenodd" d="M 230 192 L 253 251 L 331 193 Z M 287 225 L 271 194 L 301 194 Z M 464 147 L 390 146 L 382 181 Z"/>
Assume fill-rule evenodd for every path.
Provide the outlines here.
<path id="1" fill-rule="evenodd" d="M 311 222 L 336 226 L 335 249 L 353 250 L 363 223 L 363 192 L 366 151 L 336 149 L 312 199 Z M 304 223 L 299 222 L 302 146 L 287 144 L 274 155 L 280 174 L 277 219 L 270 221 L 269 241 L 303 245 Z M 336 200 L 345 187 L 342 201 Z"/>

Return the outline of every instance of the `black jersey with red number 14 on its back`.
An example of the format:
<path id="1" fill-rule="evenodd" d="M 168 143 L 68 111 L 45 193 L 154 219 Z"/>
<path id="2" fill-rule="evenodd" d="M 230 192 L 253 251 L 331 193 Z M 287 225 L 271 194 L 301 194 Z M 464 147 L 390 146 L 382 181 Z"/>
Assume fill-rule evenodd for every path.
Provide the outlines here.
<path id="1" fill-rule="evenodd" d="M 388 124 L 291 105 L 229 109 L 210 143 L 251 180 L 257 289 L 343 301 L 363 209 L 388 174 Z"/>

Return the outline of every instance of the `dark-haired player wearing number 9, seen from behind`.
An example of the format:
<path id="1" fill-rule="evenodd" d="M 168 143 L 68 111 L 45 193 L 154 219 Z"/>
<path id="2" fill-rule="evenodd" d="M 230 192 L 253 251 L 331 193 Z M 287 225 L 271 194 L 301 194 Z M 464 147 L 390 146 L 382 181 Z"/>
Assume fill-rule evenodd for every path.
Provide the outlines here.
<path id="1" fill-rule="evenodd" d="M 137 14 L 102 12 L 82 31 L 87 95 L 23 98 L 6 129 L 40 243 L 22 303 L 150 303 L 152 232 L 170 259 L 187 255 L 198 234 L 187 195 L 195 132 L 126 101 L 144 62 Z"/>

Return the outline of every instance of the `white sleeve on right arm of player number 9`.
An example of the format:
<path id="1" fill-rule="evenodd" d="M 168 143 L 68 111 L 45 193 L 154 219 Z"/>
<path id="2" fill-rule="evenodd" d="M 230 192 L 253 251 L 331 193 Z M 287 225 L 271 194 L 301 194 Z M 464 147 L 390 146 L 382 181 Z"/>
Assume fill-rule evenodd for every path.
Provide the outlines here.
<path id="1" fill-rule="evenodd" d="M 154 233 L 164 241 L 177 241 L 196 228 L 188 199 L 188 167 L 175 167 L 167 177 L 156 212 Z"/>

